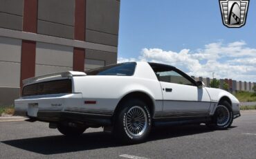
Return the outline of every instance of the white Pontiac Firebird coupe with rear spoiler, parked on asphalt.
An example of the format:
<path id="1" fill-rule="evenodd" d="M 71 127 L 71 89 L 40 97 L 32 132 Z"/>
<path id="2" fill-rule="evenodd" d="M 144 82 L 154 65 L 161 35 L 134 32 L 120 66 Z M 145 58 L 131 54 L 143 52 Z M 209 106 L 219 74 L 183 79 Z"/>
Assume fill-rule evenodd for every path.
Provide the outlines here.
<path id="1" fill-rule="evenodd" d="M 64 135 L 104 127 L 129 143 L 143 142 L 154 126 L 205 123 L 228 129 L 240 116 L 239 101 L 227 91 L 149 62 L 25 79 L 15 112 L 30 122 L 49 122 Z"/>

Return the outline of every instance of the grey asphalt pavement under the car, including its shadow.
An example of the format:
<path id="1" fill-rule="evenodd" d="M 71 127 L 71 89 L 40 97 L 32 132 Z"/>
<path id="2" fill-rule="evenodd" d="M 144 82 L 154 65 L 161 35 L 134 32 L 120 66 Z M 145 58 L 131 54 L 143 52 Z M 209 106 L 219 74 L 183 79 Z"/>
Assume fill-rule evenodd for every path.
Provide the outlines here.
<path id="1" fill-rule="evenodd" d="M 44 122 L 0 122 L 0 158 L 256 158 L 255 148 L 256 111 L 243 111 L 225 131 L 157 128 L 135 145 L 119 144 L 102 129 L 71 139 Z"/>

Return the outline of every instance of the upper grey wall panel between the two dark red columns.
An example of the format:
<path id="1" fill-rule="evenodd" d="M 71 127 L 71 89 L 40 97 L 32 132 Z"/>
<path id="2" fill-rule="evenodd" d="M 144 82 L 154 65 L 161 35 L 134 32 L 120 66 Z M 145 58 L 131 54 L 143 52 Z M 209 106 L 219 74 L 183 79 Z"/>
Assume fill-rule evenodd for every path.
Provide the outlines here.
<path id="1" fill-rule="evenodd" d="M 75 0 L 38 0 L 37 33 L 74 38 Z"/>

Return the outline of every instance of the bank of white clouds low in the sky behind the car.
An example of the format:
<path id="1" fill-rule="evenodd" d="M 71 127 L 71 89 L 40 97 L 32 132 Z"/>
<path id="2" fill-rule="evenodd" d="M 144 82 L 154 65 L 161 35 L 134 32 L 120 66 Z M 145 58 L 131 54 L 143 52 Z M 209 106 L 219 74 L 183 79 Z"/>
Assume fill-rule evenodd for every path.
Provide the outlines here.
<path id="1" fill-rule="evenodd" d="M 147 61 L 170 64 L 196 77 L 231 78 L 256 82 L 256 49 L 246 47 L 245 41 L 230 44 L 211 43 L 204 48 L 179 53 L 160 48 L 143 48 L 136 58 L 118 58 L 118 62 Z"/>

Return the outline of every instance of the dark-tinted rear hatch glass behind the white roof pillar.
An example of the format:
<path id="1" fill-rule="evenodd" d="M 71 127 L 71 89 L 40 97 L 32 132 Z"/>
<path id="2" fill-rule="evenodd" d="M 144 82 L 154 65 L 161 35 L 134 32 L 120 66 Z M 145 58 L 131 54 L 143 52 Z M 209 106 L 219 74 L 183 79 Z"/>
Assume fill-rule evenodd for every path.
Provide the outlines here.
<path id="1" fill-rule="evenodd" d="M 136 62 L 127 62 L 122 64 L 114 64 L 104 66 L 101 68 L 95 68 L 89 71 L 85 71 L 87 75 L 121 75 L 131 76 L 134 75 Z"/>

